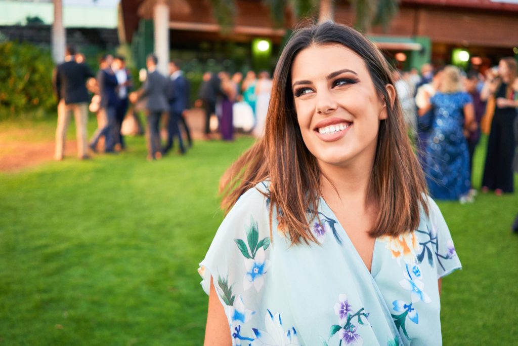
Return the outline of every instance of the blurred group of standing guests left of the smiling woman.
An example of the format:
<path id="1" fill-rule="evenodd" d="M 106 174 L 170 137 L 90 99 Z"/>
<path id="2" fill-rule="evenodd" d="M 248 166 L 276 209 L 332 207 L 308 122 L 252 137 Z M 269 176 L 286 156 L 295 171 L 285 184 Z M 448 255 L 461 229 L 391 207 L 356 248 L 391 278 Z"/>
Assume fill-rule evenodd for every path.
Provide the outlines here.
<path id="1" fill-rule="evenodd" d="M 146 69 L 140 71 L 141 88 L 132 91 L 132 74 L 122 56 L 106 54 L 99 60 L 99 69 L 93 74 L 84 56 L 68 46 L 65 62 L 54 71 L 54 89 L 59 100 L 56 129 L 55 159 L 62 160 L 70 114 L 75 114 L 78 156 L 89 159 L 90 153 L 117 153 L 126 148 L 124 133 L 143 132 L 138 112 L 145 112 L 148 159 L 155 160 L 168 154 L 178 142 L 180 154 L 192 147 L 193 139 L 186 110 L 190 108 L 190 83 L 181 71 L 179 61 L 169 63 L 169 73 L 156 70 L 157 58 L 150 54 Z M 204 136 L 211 140 L 213 129 L 221 139 L 232 141 L 235 131 L 261 136 L 270 99 L 272 81 L 266 71 L 256 76 L 249 71 L 203 75 L 195 106 L 205 113 Z M 90 94 L 93 94 L 91 97 Z M 97 116 L 97 129 L 87 139 L 88 110 Z M 166 119 L 162 119 L 162 118 Z M 165 144 L 161 139 L 161 125 L 167 132 Z M 186 144 L 184 144 L 186 139 Z"/>

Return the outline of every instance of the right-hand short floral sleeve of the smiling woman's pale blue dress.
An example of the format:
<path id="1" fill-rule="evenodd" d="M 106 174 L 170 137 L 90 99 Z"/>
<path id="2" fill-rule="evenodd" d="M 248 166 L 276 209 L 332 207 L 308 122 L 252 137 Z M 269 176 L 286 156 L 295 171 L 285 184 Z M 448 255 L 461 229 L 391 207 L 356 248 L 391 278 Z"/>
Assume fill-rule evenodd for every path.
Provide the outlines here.
<path id="1" fill-rule="evenodd" d="M 450 230 L 439 210 L 439 206 L 429 197 L 428 207 L 430 240 L 432 240 L 432 244 L 435 243 L 434 251 L 437 278 L 439 279 L 457 269 L 461 269 L 462 265 L 455 251 Z"/>

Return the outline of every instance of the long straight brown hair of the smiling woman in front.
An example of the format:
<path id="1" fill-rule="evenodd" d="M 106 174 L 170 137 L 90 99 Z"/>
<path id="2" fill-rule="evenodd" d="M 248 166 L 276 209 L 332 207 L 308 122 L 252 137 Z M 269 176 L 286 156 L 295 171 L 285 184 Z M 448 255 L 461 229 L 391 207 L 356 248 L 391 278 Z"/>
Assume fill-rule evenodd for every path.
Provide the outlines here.
<path id="1" fill-rule="evenodd" d="M 378 202 L 379 215 L 372 237 L 397 236 L 419 226 L 420 206 L 428 213 L 424 174 L 408 138 L 399 101 L 393 104 L 385 86 L 393 84 L 391 68 L 378 48 L 350 27 L 325 22 L 296 30 L 279 58 L 273 80 L 264 137 L 225 172 L 220 182 L 222 207 L 228 211 L 239 196 L 269 180 L 267 197 L 278 211 L 279 224 L 293 244 L 316 241 L 307 211 L 316 217 L 322 173 L 304 144 L 291 89 L 292 64 L 297 54 L 312 45 L 341 44 L 365 61 L 387 119 L 380 121 L 369 196 Z M 270 224 L 272 211 L 270 207 Z M 271 230 L 270 230 L 271 231 Z"/>

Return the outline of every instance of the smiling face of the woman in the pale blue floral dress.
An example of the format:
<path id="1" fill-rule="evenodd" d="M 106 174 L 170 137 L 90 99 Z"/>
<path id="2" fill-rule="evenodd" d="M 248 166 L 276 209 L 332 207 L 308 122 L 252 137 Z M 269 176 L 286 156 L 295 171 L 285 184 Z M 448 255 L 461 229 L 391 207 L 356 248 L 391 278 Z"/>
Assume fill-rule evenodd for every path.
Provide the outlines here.
<path id="1" fill-rule="evenodd" d="M 292 91 L 304 143 L 321 167 L 358 162 L 370 170 L 387 113 L 364 60 L 338 44 L 301 50 Z"/>

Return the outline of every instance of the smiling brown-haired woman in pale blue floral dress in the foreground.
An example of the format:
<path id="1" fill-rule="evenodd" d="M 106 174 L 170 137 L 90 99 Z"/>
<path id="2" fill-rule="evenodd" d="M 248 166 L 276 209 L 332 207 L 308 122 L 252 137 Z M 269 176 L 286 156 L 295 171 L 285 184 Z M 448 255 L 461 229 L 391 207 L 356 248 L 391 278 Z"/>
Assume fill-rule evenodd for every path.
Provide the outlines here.
<path id="1" fill-rule="evenodd" d="M 441 344 L 440 280 L 461 264 L 362 34 L 294 32 L 265 135 L 221 183 L 205 345 Z"/>

